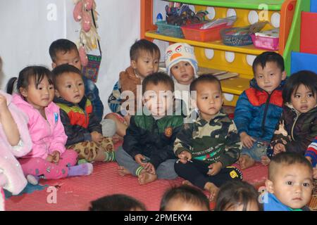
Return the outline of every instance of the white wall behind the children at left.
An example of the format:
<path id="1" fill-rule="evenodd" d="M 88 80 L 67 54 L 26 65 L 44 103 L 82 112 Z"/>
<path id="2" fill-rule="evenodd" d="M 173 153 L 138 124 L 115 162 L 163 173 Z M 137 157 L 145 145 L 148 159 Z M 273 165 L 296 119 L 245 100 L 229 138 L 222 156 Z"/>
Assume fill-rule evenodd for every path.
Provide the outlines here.
<path id="1" fill-rule="evenodd" d="M 96 4 L 103 52 L 97 86 L 108 113 L 108 95 L 119 72 L 130 64 L 130 46 L 139 39 L 139 0 L 96 0 Z M 54 16 L 49 20 L 54 7 L 56 20 Z M 4 61 L 1 89 L 27 65 L 51 68 L 52 41 L 78 39 L 80 25 L 73 20 L 73 7 L 72 0 L 0 0 L 0 56 Z"/>

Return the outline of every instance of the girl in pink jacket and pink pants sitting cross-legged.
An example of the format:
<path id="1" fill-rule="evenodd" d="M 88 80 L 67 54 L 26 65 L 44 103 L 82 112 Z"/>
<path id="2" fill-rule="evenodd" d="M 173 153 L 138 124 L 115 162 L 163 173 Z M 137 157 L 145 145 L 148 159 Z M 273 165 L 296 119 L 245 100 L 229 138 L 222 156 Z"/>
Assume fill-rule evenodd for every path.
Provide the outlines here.
<path id="1" fill-rule="evenodd" d="M 41 66 L 24 68 L 18 77 L 18 91 L 13 103 L 28 117 L 27 127 L 32 139 L 32 150 L 19 159 L 30 182 L 38 179 L 60 179 L 66 176 L 82 176 L 92 173 L 92 164 L 77 165 L 77 153 L 66 150 L 67 136 L 53 103 L 54 86 L 51 72 Z"/>

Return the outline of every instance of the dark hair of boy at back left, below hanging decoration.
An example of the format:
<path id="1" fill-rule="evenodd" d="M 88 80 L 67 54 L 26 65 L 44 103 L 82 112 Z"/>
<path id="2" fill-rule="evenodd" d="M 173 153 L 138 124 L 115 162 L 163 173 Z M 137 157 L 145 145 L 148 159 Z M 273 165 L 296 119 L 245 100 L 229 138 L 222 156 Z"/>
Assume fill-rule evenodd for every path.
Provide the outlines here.
<path id="1" fill-rule="evenodd" d="M 49 46 L 49 56 L 51 56 L 51 60 L 55 63 L 58 51 L 62 51 L 65 54 L 71 50 L 78 52 L 77 46 L 73 41 L 68 39 L 57 39 L 51 43 L 51 46 Z"/>

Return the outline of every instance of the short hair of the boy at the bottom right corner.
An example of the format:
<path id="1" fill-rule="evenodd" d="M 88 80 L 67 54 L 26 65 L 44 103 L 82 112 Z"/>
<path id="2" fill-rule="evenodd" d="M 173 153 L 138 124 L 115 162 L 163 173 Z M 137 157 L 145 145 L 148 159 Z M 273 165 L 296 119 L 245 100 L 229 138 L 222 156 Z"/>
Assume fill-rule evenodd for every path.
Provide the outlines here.
<path id="1" fill-rule="evenodd" d="M 290 153 L 290 152 L 283 152 L 279 153 L 278 155 L 273 156 L 271 159 L 270 164 L 268 165 L 268 179 L 273 180 L 274 174 L 278 173 L 278 165 L 295 165 L 300 164 L 307 166 L 311 172 L 313 172 L 313 167 L 309 160 L 307 160 L 304 155 L 299 153 Z"/>

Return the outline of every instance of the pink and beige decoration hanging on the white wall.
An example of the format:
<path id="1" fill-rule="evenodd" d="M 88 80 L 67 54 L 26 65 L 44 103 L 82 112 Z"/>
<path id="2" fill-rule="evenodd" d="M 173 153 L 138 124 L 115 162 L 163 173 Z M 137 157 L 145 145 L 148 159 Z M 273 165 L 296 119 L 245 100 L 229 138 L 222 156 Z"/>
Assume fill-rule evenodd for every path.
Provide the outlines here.
<path id="1" fill-rule="evenodd" d="M 82 63 L 82 73 L 92 81 L 97 81 L 99 67 L 101 63 L 100 37 L 97 33 L 96 4 L 94 0 L 73 0 L 75 8 L 73 17 L 81 24 L 80 38 L 77 40 L 77 48 Z M 89 51 L 99 49 L 100 56 L 87 54 Z"/>

